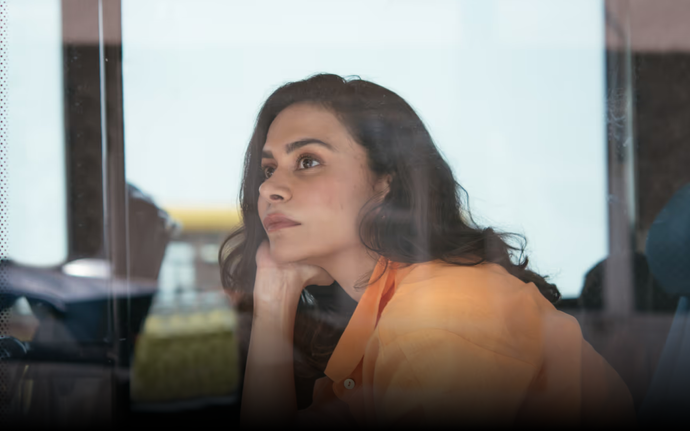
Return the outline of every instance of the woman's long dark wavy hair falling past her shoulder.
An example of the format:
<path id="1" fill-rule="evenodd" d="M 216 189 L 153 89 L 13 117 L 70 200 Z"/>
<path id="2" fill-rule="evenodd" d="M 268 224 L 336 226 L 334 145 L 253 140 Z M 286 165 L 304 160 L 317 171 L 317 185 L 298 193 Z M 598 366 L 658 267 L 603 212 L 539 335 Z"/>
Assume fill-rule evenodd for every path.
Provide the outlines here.
<path id="1" fill-rule="evenodd" d="M 273 120 L 296 103 L 332 112 L 366 150 L 373 173 L 391 175 L 388 194 L 363 215 L 360 226 L 361 240 L 371 251 L 402 264 L 493 262 L 520 280 L 534 283 L 551 302 L 560 299 L 555 285 L 527 269 L 524 237 L 480 228 L 473 221 L 467 193 L 409 104 L 372 82 L 320 74 L 280 87 L 259 112 L 244 161 L 243 225 L 230 234 L 219 253 L 223 286 L 239 293 L 240 308 L 251 309 L 255 255 L 267 238 L 258 215 L 259 186 L 264 180 L 261 151 Z M 511 245 L 508 237 L 517 244 Z M 295 348 L 302 358 L 298 362 L 308 366 L 297 369 L 322 372 L 342 328 L 326 330 L 325 320 L 314 313 L 319 304 L 309 289 L 302 300 Z"/>

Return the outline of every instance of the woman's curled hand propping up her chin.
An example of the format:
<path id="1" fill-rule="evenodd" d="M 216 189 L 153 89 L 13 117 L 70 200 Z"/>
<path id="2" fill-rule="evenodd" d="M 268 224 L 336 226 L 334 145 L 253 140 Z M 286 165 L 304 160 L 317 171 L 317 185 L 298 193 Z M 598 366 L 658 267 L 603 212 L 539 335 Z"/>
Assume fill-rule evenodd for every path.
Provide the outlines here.
<path id="1" fill-rule="evenodd" d="M 260 302 L 298 299 L 306 286 L 330 286 L 334 281 L 328 272 L 315 265 L 276 262 L 268 240 L 256 252 L 256 279 L 254 299 Z"/>

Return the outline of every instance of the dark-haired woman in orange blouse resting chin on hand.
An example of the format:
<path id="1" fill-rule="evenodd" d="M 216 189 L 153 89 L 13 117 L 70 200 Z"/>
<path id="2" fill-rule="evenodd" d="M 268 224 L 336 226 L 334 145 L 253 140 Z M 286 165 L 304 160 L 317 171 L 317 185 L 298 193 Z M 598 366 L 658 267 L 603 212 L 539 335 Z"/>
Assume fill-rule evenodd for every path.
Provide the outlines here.
<path id="1" fill-rule="evenodd" d="M 632 420 L 620 377 L 551 304 L 556 287 L 477 227 L 458 190 L 419 117 L 381 86 L 317 75 L 268 98 L 244 225 L 220 253 L 224 285 L 252 309 L 245 425 Z M 342 335 L 314 312 L 333 289 L 356 302 Z M 324 374 L 300 410 L 299 364 Z"/>

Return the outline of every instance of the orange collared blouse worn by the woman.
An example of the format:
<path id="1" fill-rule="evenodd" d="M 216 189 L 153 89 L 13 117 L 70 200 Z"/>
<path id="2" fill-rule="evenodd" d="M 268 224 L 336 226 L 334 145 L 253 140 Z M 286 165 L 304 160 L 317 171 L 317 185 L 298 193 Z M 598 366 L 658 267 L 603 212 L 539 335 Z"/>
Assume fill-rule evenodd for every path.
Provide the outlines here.
<path id="1" fill-rule="evenodd" d="M 534 284 L 496 264 L 383 258 L 377 279 L 298 423 L 634 423 L 624 382 Z"/>

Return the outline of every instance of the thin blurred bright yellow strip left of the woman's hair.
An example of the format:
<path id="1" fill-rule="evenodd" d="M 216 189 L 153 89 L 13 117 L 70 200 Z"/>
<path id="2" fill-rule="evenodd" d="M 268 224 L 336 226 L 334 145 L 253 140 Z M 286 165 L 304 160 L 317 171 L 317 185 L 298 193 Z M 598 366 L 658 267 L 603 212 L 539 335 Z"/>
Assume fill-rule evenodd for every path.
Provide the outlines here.
<path id="1" fill-rule="evenodd" d="M 165 211 L 182 224 L 185 232 L 225 232 L 242 223 L 239 208 L 166 207 Z"/>

